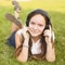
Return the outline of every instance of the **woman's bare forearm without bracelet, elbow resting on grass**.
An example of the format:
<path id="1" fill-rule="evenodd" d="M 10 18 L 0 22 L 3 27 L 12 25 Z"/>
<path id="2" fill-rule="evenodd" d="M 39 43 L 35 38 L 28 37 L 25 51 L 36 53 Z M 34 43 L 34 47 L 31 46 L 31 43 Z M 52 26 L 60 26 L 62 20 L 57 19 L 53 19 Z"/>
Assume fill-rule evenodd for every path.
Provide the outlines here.
<path id="1" fill-rule="evenodd" d="M 54 48 L 52 48 L 51 42 L 47 43 L 46 58 L 48 62 L 54 62 L 55 61 L 55 52 L 54 52 Z"/>

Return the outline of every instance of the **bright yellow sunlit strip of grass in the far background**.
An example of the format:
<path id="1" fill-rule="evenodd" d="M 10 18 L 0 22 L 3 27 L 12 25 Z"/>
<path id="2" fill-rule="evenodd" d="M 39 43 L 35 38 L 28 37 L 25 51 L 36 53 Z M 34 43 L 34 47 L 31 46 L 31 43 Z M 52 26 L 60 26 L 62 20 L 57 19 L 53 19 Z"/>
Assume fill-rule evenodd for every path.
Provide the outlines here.
<path id="1" fill-rule="evenodd" d="M 12 8 L 12 0 L 2 0 L 0 5 Z M 18 2 L 23 9 L 43 9 L 48 11 L 65 12 L 65 0 L 31 0 Z"/>

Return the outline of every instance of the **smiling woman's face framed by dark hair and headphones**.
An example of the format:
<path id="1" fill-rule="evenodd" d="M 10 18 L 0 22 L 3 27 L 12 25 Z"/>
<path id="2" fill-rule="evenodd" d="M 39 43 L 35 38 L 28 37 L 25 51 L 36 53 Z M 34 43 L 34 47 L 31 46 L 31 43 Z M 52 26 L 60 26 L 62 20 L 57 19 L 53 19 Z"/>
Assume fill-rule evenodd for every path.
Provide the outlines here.
<path id="1" fill-rule="evenodd" d="M 37 14 L 30 18 L 29 32 L 32 37 L 40 36 L 46 27 L 46 20 L 41 14 Z"/>

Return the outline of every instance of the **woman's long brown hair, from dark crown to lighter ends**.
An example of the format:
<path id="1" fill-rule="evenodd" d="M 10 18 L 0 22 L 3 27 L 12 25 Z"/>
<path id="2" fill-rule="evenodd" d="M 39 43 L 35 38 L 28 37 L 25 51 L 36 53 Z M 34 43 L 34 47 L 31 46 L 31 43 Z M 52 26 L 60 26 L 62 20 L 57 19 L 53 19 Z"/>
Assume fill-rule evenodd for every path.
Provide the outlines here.
<path id="1" fill-rule="evenodd" d="M 29 13 L 28 14 L 28 16 L 27 16 L 27 20 L 26 20 L 26 26 L 28 26 L 28 24 L 29 24 L 29 21 L 30 21 L 30 18 L 34 16 L 34 15 L 36 15 L 36 14 L 41 14 L 44 18 L 46 18 L 46 28 L 44 28 L 44 30 L 46 29 L 49 29 L 49 25 L 52 27 L 52 24 L 51 24 L 51 21 L 50 21 L 50 17 L 49 17 L 49 15 L 48 15 L 48 13 L 46 12 L 46 11 L 43 11 L 43 10 L 35 10 L 35 11 L 32 11 L 31 13 Z M 43 30 L 43 31 L 44 31 Z M 51 39 L 51 41 L 52 41 L 52 43 L 53 43 L 53 40 Z M 23 41 L 24 42 L 24 41 Z M 15 55 L 16 56 L 18 56 L 20 55 L 20 53 L 21 53 L 21 51 L 22 51 L 22 47 L 23 47 L 23 42 L 22 42 L 22 44 L 15 50 Z M 35 55 L 32 55 L 31 54 L 31 52 L 30 52 L 30 48 L 31 48 L 31 44 L 32 44 L 32 42 L 31 42 L 31 37 L 29 38 L 29 49 L 28 49 L 28 56 L 30 57 L 30 56 L 35 56 L 35 58 L 37 58 L 37 60 L 43 60 L 44 58 L 44 55 L 46 55 L 46 53 L 47 53 L 47 42 L 46 42 L 46 37 L 43 36 L 43 32 L 41 34 L 41 40 L 40 40 L 40 42 L 41 42 L 41 53 L 40 54 L 35 54 Z"/>

